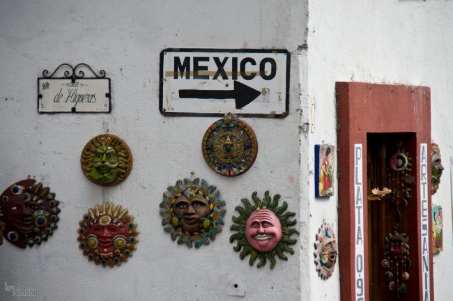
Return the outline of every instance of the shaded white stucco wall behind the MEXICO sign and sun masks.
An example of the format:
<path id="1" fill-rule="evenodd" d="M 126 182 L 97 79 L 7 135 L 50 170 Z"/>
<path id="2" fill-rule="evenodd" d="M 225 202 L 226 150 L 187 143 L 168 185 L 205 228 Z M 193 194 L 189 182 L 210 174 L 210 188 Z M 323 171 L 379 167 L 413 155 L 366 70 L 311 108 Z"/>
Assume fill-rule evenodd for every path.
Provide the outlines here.
<path id="1" fill-rule="evenodd" d="M 234 207 L 254 191 L 282 194 L 289 210 L 298 213 L 296 227 L 308 224 L 307 206 L 300 206 L 300 149 L 306 156 L 306 146 L 300 147 L 300 91 L 306 90 L 306 80 L 299 68 L 307 64 L 298 46 L 305 43 L 304 3 L 2 0 L 1 191 L 28 175 L 36 177 L 61 201 L 61 220 L 39 247 L 19 249 L 3 242 L 0 300 L 14 300 L 3 284 L 37 289 L 38 300 L 307 300 L 312 250 L 305 228 L 295 254 L 288 262 L 277 260 L 273 270 L 268 264 L 250 267 L 248 257 L 241 261 L 229 242 Z M 160 114 L 159 54 L 167 47 L 291 52 L 289 116 L 243 118 L 259 141 L 258 157 L 247 173 L 225 178 L 204 162 L 201 138 L 218 118 Z M 61 63 L 105 70 L 112 79 L 112 113 L 38 114 L 36 79 Z M 102 188 L 83 176 L 79 157 L 91 137 L 107 130 L 126 141 L 134 166 L 123 183 Z M 192 171 L 217 186 L 227 202 L 222 233 L 201 249 L 172 241 L 159 215 L 167 186 Z M 137 251 L 119 268 L 95 265 L 78 248 L 79 220 L 102 201 L 121 203 L 138 223 Z M 244 298 L 227 295 L 231 277 L 245 279 Z"/>

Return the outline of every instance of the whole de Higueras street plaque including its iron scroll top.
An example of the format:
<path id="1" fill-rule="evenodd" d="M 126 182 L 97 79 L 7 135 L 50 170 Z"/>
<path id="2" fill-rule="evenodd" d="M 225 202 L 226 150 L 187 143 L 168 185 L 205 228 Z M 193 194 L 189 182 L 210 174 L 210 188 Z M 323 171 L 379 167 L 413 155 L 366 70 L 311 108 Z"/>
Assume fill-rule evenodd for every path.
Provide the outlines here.
<path id="1" fill-rule="evenodd" d="M 63 77 L 54 77 L 63 70 Z M 84 77 L 84 70 L 93 77 Z M 108 113 L 110 110 L 110 79 L 105 77 L 104 70 L 96 75 L 85 63 L 74 68 L 63 63 L 52 75 L 44 70 L 43 77 L 38 78 L 40 113 Z"/>

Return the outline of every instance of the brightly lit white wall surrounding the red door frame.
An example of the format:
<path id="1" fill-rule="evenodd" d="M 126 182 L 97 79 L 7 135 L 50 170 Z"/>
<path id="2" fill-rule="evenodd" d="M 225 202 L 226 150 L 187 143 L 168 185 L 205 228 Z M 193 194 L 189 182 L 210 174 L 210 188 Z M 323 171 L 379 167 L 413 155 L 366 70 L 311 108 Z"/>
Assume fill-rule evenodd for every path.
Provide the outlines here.
<path id="1" fill-rule="evenodd" d="M 445 167 L 440 189 L 432 198 L 443 206 L 444 226 L 444 251 L 433 256 L 436 300 L 451 299 L 448 288 L 453 269 L 449 164 L 453 155 L 452 15 L 453 2 L 444 0 L 309 1 L 308 95 L 316 102 L 316 131 L 310 134 L 310 150 L 322 140 L 336 144 L 335 82 L 431 88 L 431 137 L 440 146 Z M 312 156 L 309 151 L 309 161 Z M 313 176 L 310 187 L 312 182 Z M 310 233 L 316 233 L 323 218 L 335 222 L 337 231 L 341 222 L 337 220 L 337 203 L 336 196 L 310 200 Z M 332 279 L 321 281 L 314 263 L 311 265 L 310 300 L 339 300 L 338 270 Z"/>

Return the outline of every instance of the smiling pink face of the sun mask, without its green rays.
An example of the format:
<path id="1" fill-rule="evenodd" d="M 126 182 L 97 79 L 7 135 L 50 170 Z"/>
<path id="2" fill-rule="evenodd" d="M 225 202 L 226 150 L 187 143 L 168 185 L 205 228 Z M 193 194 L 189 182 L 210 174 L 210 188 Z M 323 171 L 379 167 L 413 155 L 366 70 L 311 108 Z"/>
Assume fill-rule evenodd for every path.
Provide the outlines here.
<path id="1" fill-rule="evenodd" d="M 245 224 L 245 238 L 259 252 L 272 251 L 282 239 L 282 225 L 271 210 L 256 210 Z"/>

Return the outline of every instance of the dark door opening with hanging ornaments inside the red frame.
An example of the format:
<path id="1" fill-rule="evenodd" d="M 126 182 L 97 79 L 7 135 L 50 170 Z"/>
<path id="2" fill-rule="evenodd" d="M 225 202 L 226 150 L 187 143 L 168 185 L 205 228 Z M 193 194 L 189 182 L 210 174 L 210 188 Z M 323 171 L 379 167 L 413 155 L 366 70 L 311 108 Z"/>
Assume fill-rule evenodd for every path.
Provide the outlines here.
<path id="1" fill-rule="evenodd" d="M 369 300 L 417 300 L 415 133 L 367 134 Z M 415 254 L 415 253 L 414 253 Z M 412 289 L 411 289 L 412 288 Z"/>

